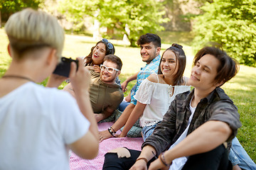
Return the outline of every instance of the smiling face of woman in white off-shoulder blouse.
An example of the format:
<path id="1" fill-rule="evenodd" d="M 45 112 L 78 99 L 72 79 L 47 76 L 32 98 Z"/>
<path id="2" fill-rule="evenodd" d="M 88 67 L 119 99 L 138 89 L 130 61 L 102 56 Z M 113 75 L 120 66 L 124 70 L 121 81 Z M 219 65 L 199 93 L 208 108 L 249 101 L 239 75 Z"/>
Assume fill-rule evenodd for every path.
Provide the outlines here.
<path id="1" fill-rule="evenodd" d="M 166 50 L 160 64 L 161 72 L 165 77 L 171 77 L 178 72 L 178 61 L 171 50 Z"/>

